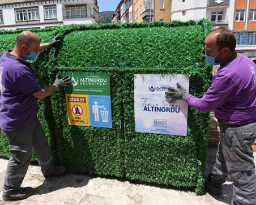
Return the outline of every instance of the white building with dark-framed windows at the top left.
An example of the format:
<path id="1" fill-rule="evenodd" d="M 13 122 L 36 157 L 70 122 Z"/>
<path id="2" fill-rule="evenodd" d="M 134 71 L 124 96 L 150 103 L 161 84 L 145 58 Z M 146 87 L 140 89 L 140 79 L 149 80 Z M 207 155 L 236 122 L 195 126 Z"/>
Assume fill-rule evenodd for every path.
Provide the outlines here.
<path id="1" fill-rule="evenodd" d="M 97 0 L 1 0 L 0 29 L 98 24 Z"/>

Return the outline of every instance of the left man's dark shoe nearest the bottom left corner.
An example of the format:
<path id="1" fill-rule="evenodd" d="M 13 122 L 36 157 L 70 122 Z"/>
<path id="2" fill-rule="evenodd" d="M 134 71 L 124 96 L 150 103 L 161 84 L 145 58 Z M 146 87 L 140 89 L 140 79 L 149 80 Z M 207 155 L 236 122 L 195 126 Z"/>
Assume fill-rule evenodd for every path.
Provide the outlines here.
<path id="1" fill-rule="evenodd" d="M 24 187 L 18 190 L 12 190 L 8 194 L 3 194 L 3 200 L 22 200 L 27 199 L 34 193 L 32 187 Z"/>

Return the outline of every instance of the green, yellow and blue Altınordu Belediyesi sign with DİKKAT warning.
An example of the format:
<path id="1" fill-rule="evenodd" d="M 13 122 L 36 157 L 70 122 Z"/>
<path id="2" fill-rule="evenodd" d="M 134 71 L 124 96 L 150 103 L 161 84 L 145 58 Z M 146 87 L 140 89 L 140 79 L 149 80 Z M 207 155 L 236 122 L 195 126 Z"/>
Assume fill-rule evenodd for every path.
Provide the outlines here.
<path id="1" fill-rule="evenodd" d="M 110 78 L 105 72 L 64 72 L 69 124 L 112 128 Z"/>

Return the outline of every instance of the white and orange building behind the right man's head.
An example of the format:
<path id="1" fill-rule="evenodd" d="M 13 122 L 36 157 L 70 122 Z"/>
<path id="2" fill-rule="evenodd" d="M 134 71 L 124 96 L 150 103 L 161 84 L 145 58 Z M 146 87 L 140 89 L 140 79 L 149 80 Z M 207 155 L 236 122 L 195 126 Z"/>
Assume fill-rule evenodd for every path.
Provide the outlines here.
<path id="1" fill-rule="evenodd" d="M 256 57 L 256 0 L 181 0 L 172 5 L 172 20 L 207 18 L 212 28 L 229 28 L 236 36 L 236 50 Z"/>

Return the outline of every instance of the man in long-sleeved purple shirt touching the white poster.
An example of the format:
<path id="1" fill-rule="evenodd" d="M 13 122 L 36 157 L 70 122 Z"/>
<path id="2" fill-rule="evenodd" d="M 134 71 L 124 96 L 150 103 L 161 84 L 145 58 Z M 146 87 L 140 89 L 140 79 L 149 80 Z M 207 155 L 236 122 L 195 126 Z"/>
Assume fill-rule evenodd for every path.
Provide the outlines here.
<path id="1" fill-rule="evenodd" d="M 204 96 L 199 99 L 177 83 L 166 97 L 185 100 L 202 112 L 215 110 L 220 124 L 220 143 L 216 164 L 206 185 L 212 193 L 222 194 L 222 184 L 233 181 L 232 204 L 256 204 L 256 177 L 251 144 L 256 136 L 256 65 L 235 50 L 236 38 L 225 28 L 217 28 L 206 37 L 206 61 L 220 65 Z"/>

